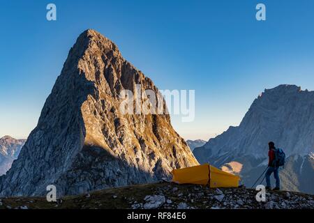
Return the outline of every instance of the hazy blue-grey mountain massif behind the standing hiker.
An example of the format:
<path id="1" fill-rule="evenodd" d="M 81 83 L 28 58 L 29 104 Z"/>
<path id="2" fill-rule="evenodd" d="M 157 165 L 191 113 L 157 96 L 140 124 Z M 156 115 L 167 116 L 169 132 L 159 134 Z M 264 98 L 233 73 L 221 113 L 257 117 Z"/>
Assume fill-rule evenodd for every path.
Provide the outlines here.
<path id="1" fill-rule="evenodd" d="M 281 171 L 283 189 L 314 194 L 314 91 L 294 85 L 266 89 L 238 127 L 230 127 L 193 153 L 201 163 L 240 174 L 251 186 L 267 167 L 269 141 L 287 155 Z"/>

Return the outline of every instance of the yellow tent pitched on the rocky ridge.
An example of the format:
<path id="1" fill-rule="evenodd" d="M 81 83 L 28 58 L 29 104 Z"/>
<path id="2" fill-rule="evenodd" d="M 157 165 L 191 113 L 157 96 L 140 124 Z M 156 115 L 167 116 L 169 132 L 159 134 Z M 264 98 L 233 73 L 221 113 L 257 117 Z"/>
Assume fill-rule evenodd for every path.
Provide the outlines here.
<path id="1" fill-rule="evenodd" d="M 209 185 L 209 187 L 239 187 L 239 176 L 229 174 L 209 164 L 172 170 L 172 182 Z"/>

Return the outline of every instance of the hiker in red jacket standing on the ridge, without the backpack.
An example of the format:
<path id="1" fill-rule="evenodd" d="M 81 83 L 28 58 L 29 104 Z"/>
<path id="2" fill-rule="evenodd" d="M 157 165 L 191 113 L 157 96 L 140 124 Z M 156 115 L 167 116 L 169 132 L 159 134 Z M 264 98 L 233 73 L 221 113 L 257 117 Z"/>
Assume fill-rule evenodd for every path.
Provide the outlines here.
<path id="1" fill-rule="evenodd" d="M 268 169 L 265 174 L 266 178 L 266 189 L 271 190 L 271 181 L 270 181 L 270 176 L 271 173 L 274 172 L 274 177 L 276 179 L 276 187 L 273 190 L 280 190 L 281 187 L 281 180 L 279 179 L 279 167 L 277 165 L 276 167 L 276 147 L 273 141 L 269 142 L 269 151 L 268 151 L 268 156 L 269 156 L 269 162 L 268 162 Z"/>

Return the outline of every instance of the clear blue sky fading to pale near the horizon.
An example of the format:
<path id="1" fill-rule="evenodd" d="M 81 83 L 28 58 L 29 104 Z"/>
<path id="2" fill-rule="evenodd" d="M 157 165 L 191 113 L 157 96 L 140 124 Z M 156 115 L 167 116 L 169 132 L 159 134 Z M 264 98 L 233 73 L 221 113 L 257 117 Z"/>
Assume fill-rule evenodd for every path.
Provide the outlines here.
<path id="1" fill-rule="evenodd" d="M 47 3 L 57 21 L 46 20 Z M 267 20 L 255 20 L 264 3 Z M 314 90 L 314 1 L 1 1 L 0 137 L 35 128 L 68 50 L 96 29 L 159 89 L 195 89 L 195 121 L 172 117 L 185 139 L 239 125 L 278 84 Z"/>

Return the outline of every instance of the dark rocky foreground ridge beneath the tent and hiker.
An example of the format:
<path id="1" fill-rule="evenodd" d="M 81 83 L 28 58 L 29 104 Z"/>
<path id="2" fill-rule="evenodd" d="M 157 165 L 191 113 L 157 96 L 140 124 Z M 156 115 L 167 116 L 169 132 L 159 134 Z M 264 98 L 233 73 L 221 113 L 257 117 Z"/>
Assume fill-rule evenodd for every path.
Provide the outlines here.
<path id="1" fill-rule="evenodd" d="M 269 191 L 257 202 L 257 191 L 246 188 L 213 189 L 200 185 L 154 183 L 100 190 L 47 202 L 45 197 L 1 198 L 0 209 L 126 208 L 126 209 L 314 209 L 314 195 Z"/>

